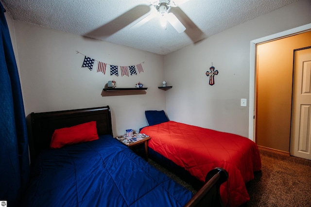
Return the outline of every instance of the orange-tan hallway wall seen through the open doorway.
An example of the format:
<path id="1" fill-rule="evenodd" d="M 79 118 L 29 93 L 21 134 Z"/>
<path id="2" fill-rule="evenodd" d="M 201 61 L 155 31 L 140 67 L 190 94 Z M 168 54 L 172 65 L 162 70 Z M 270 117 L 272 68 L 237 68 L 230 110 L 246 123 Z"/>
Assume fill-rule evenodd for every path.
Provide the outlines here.
<path id="1" fill-rule="evenodd" d="M 294 50 L 311 46 L 311 31 L 257 45 L 256 143 L 289 154 Z"/>

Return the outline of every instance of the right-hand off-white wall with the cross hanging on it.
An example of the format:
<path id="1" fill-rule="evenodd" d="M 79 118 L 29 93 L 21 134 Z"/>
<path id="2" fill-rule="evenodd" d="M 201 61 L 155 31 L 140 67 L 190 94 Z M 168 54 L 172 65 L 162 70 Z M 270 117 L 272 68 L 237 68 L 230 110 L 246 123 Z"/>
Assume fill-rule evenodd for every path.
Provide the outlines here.
<path id="1" fill-rule="evenodd" d="M 300 0 L 166 55 L 169 118 L 248 137 L 249 105 L 240 102 L 249 100 L 250 41 L 311 23 L 310 9 Z M 205 74 L 211 63 L 219 71 L 213 86 Z"/>

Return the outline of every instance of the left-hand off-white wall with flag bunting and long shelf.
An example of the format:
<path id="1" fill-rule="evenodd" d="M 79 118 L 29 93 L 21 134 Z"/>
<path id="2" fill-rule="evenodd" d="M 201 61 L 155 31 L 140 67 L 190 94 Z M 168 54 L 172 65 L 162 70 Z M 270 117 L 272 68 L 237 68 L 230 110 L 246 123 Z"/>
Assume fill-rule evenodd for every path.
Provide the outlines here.
<path id="1" fill-rule="evenodd" d="M 114 135 L 125 129 L 138 130 L 147 125 L 145 110 L 166 108 L 161 55 L 59 32 L 15 21 L 20 80 L 26 115 L 31 112 L 58 111 L 109 105 Z M 115 65 L 144 62 L 143 73 L 134 76 L 110 76 L 97 73 L 97 62 L 90 71 L 81 67 L 84 55 Z M 138 81 L 148 87 L 146 95 L 101 96 L 105 83 L 116 80 L 118 87 L 135 87 Z"/>

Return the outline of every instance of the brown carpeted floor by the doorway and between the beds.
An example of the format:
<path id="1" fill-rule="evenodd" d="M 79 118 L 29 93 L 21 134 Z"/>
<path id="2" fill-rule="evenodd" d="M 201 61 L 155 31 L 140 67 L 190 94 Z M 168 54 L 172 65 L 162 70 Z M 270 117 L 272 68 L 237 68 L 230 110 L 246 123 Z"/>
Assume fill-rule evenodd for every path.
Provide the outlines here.
<path id="1" fill-rule="evenodd" d="M 246 184 L 243 207 L 311 207 L 311 160 L 260 150 L 262 168 Z M 191 184 L 149 159 L 149 163 L 195 193 Z"/>

